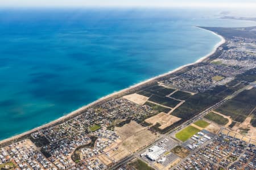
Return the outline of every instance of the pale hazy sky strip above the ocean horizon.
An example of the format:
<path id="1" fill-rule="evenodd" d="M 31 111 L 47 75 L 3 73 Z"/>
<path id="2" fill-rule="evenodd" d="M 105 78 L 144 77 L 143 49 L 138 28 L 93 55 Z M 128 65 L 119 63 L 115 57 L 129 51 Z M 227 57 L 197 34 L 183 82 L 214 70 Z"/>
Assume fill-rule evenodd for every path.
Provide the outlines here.
<path id="1" fill-rule="evenodd" d="M 0 7 L 237 7 L 255 8 L 256 0 L 0 0 Z"/>

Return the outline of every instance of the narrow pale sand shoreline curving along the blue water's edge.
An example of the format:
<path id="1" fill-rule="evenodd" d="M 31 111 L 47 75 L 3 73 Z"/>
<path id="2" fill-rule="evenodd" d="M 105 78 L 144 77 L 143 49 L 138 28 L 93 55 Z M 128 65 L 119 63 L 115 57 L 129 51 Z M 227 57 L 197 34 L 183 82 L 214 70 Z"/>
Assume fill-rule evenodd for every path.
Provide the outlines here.
<path id="1" fill-rule="evenodd" d="M 196 28 L 199 28 L 199 29 L 204 29 L 204 28 L 201 28 L 201 27 L 196 27 Z M 226 40 L 224 39 L 224 37 L 222 37 L 221 35 L 218 35 L 216 32 L 213 32 L 213 31 L 210 31 L 208 29 L 204 29 L 205 31 L 209 31 L 211 33 L 213 33 L 214 35 L 220 37 L 221 41 L 218 42 L 216 45 L 213 46 L 213 49 L 210 53 L 208 53 L 207 55 L 197 59 L 197 61 L 193 62 L 193 63 L 188 63 L 187 65 L 183 65 L 183 66 L 180 66 L 180 67 L 177 67 L 176 69 L 174 70 L 171 70 L 171 71 L 168 71 L 167 73 L 164 73 L 164 74 L 160 74 L 158 76 L 154 76 L 152 78 L 149 78 L 147 80 L 144 80 L 140 83 L 137 83 L 137 84 L 134 84 L 130 87 L 127 87 L 127 88 L 124 88 L 123 90 L 119 90 L 119 91 L 115 91 L 113 92 L 112 94 L 109 94 L 109 95 L 106 95 L 106 96 L 103 96 L 101 97 L 100 99 L 96 100 L 96 101 L 93 101 L 92 103 L 89 103 L 87 105 L 84 105 L 83 107 L 79 108 L 79 109 L 76 109 L 75 111 L 71 112 L 71 113 L 68 113 L 60 118 L 57 118 L 56 120 L 53 120 L 51 122 L 48 122 L 47 124 L 44 124 L 42 126 L 38 126 L 37 128 L 34 128 L 34 129 L 31 129 L 31 130 L 28 130 L 28 131 L 25 131 L 23 133 L 20 133 L 20 134 L 17 134 L 17 135 L 14 135 L 13 137 L 9 137 L 7 139 L 3 139 L 0 141 L 0 145 L 2 145 L 3 143 L 6 143 L 6 142 L 10 142 L 10 141 L 15 141 L 15 139 L 19 139 L 19 138 L 22 138 L 23 136 L 25 135 L 28 135 L 28 134 L 31 134 L 31 133 L 34 133 L 35 131 L 37 130 L 40 130 L 40 129 L 43 129 L 43 128 L 47 128 L 48 126 L 51 126 L 53 124 L 56 124 L 60 121 L 63 121 L 69 117 L 72 117 L 72 116 L 75 116 L 75 114 L 81 112 L 81 111 L 84 111 L 85 109 L 89 108 L 89 107 L 92 107 L 94 104 L 97 104 L 97 103 L 100 103 L 101 101 L 104 101 L 106 99 L 109 99 L 110 97 L 114 97 L 118 94 L 122 94 L 123 92 L 127 92 L 127 91 L 130 91 L 132 90 L 133 88 L 136 88 L 136 87 L 139 87 L 139 86 L 142 86 L 143 84 L 146 84 L 146 83 L 149 83 L 149 82 L 152 82 L 156 79 L 159 79 L 159 78 L 162 78 L 163 76 L 166 76 L 166 75 L 170 75 L 172 73 L 175 73 L 176 71 L 179 71 L 179 70 L 182 70 L 184 69 L 185 67 L 188 67 L 188 66 L 191 66 L 191 65 L 195 65 L 197 63 L 200 63 L 200 62 L 203 62 L 205 59 L 207 59 L 208 57 L 212 56 L 218 49 L 219 46 L 221 46 L 222 44 L 224 44 L 226 42 Z"/>

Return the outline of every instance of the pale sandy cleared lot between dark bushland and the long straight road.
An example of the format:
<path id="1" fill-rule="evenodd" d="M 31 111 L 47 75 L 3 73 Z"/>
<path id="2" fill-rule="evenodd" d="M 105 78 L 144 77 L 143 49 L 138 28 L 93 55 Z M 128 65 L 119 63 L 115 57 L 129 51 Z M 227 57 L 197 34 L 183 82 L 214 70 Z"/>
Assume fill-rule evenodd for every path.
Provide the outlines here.
<path id="1" fill-rule="evenodd" d="M 181 118 L 162 112 L 162 113 L 156 114 L 156 116 L 147 118 L 145 122 L 152 125 L 159 123 L 161 125 L 159 129 L 164 129 L 164 128 L 167 128 L 168 126 L 171 126 L 172 124 L 174 124 L 179 120 L 181 120 Z"/>

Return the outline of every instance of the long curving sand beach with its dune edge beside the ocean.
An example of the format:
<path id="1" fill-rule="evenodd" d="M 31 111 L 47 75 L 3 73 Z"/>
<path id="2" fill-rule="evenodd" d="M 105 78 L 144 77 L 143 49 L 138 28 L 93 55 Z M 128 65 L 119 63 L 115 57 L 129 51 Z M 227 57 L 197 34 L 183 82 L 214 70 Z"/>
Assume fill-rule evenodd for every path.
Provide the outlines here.
<path id="1" fill-rule="evenodd" d="M 147 80 L 144 80 L 143 82 L 141 83 L 137 83 L 133 86 L 130 86 L 128 88 L 125 88 L 121 91 L 117 91 L 117 92 L 113 92 L 112 94 L 110 95 L 107 95 L 107 96 L 104 96 L 104 97 L 101 97 L 100 99 L 96 100 L 96 101 L 93 101 L 92 103 L 88 104 L 88 105 L 85 105 L 84 107 L 81 107 L 79 109 L 77 109 L 76 111 L 73 111 L 63 117 L 60 117 L 58 118 L 57 120 L 54 120 L 54 121 L 51 121 L 47 124 L 44 124 L 42 126 L 39 126 L 38 128 L 34 128 L 32 130 L 29 130 L 29 131 L 26 131 L 24 133 L 21 133 L 21 134 L 18 134 L 18 135 L 15 135 L 13 137 L 10 137 L 10 138 L 7 138 L 7 139 L 3 139 L 2 141 L 0 141 L 0 147 L 3 146 L 3 145 L 9 145 L 10 143 L 12 142 L 15 142 L 15 141 L 20 141 L 24 138 L 27 138 L 31 133 L 34 133 L 35 131 L 38 131 L 40 129 L 43 129 L 43 128 L 47 128 L 49 126 L 54 126 L 54 125 L 57 125 L 57 124 L 61 124 L 62 122 L 64 121 L 67 121 L 69 118 L 72 118 L 72 117 L 75 117 L 75 116 L 78 116 L 79 114 L 82 114 L 82 111 L 85 111 L 85 109 L 88 109 L 90 107 L 93 107 L 94 105 L 97 105 L 105 100 L 108 100 L 112 97 L 117 97 L 119 95 L 122 95 L 122 94 L 125 94 L 129 91 L 132 91 L 134 90 L 135 88 L 139 88 L 141 86 L 144 86 L 148 83 L 151 83 L 151 82 L 154 82 L 155 80 L 159 79 L 159 78 L 163 78 L 164 76 L 167 76 L 167 75 L 170 75 L 170 74 L 173 74 L 173 73 L 176 73 L 177 71 L 180 71 L 180 70 L 183 70 L 185 69 L 185 67 L 188 67 L 188 66 L 192 66 L 192 65 L 195 65 L 197 63 L 200 63 L 200 62 L 203 62 L 205 59 L 207 59 L 208 57 L 212 56 L 214 53 L 216 53 L 217 49 L 219 46 L 221 46 L 222 44 L 225 43 L 225 39 L 224 37 L 222 37 L 221 35 L 218 35 L 217 33 L 213 32 L 213 31 L 210 31 L 208 29 L 205 29 L 205 28 L 201 28 L 201 27 L 196 27 L 196 28 L 199 28 L 199 29 L 204 29 L 206 31 L 209 31 L 211 33 L 213 33 L 214 35 L 220 37 L 221 41 L 218 42 L 216 45 L 214 45 L 213 47 L 213 50 L 208 53 L 206 56 L 204 57 L 201 57 L 200 59 L 198 59 L 196 62 L 193 62 L 193 63 L 189 63 L 187 65 L 183 65 L 183 66 L 180 66 L 174 70 L 171 70 L 169 71 L 168 73 L 164 73 L 164 74 L 161 74 L 161 75 L 158 75 L 158 76 L 155 76 L 153 78 L 150 78 L 150 79 L 147 79 Z"/>

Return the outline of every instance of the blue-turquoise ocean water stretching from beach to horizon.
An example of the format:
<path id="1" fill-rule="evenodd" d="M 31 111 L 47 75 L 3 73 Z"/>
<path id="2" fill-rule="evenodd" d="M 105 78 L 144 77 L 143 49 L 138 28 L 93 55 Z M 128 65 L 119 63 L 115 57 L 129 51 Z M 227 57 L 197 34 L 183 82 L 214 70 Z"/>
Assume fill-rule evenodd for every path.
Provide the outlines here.
<path id="1" fill-rule="evenodd" d="M 0 10 L 0 139 L 55 120 L 212 51 L 195 25 L 245 27 L 199 11 Z"/>

